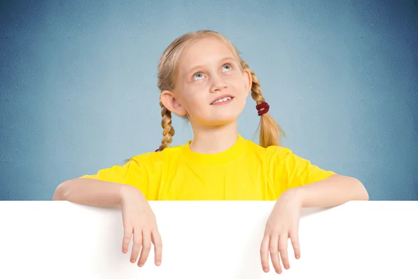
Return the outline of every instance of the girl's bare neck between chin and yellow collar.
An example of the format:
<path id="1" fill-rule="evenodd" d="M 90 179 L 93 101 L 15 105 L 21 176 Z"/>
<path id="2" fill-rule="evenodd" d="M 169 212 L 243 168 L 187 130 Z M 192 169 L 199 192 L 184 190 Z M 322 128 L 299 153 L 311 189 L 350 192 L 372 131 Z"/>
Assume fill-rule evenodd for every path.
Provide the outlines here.
<path id="1" fill-rule="evenodd" d="M 229 149 L 238 140 L 238 122 L 223 126 L 193 128 L 190 149 L 196 153 L 220 153 Z"/>

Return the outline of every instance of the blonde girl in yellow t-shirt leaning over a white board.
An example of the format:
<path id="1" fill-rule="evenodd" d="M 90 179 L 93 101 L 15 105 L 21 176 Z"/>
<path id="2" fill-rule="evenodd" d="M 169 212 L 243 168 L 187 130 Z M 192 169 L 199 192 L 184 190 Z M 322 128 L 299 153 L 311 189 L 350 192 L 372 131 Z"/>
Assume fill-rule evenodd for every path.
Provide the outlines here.
<path id="1" fill-rule="evenodd" d="M 325 207 L 369 199 L 357 179 L 311 165 L 280 146 L 281 128 L 268 114 L 260 83 L 235 46 L 214 31 L 180 36 L 158 65 L 163 139 L 157 152 L 134 156 L 125 165 L 101 169 L 61 183 L 54 200 L 93 206 L 121 205 L 124 253 L 133 235 L 130 261 L 144 266 L 162 240 L 150 200 L 274 200 L 261 241 L 261 264 L 269 255 L 277 273 L 289 269 L 288 238 L 300 258 L 298 225 L 302 207 Z M 256 101 L 260 144 L 238 134 L 237 119 L 247 96 Z M 171 114 L 187 117 L 193 139 L 170 146 Z M 280 263 L 281 259 L 281 263 Z"/>

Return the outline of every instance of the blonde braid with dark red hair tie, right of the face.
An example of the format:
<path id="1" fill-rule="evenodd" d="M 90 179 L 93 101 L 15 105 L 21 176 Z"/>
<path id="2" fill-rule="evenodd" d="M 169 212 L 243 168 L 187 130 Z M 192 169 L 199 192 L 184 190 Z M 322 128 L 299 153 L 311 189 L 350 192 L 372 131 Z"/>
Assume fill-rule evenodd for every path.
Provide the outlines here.
<path id="1" fill-rule="evenodd" d="M 249 68 L 247 62 L 242 61 L 242 66 L 244 69 L 248 69 L 251 73 L 252 84 L 251 84 L 251 97 L 256 101 L 257 105 L 265 102 L 265 98 L 261 93 L 260 82 L 254 74 L 254 72 Z M 265 110 L 265 109 L 261 109 Z M 279 124 L 273 119 L 269 113 L 265 113 L 260 116 L 260 124 L 258 126 L 260 130 L 260 145 L 263 147 L 268 146 L 280 146 L 280 135 L 284 135 L 284 131 L 281 129 Z"/>

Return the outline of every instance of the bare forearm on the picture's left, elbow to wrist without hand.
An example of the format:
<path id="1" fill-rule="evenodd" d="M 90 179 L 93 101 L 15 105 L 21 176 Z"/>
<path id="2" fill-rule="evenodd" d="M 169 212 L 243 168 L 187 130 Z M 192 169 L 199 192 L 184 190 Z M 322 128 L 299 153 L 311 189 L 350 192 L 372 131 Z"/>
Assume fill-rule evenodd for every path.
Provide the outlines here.
<path id="1" fill-rule="evenodd" d="M 97 179 L 71 179 L 56 188 L 52 200 L 66 200 L 91 206 L 115 206 L 121 204 L 123 195 L 137 193 L 137 188 L 125 184 L 100 181 Z M 144 197 L 145 199 L 145 197 Z"/>

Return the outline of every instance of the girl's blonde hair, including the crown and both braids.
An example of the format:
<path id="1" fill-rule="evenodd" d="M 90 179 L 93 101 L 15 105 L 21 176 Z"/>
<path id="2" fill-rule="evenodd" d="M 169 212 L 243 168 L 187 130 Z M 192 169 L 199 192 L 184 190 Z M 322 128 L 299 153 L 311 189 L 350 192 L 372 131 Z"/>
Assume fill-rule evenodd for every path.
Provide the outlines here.
<path id="1" fill-rule="evenodd" d="M 251 85 L 251 97 L 256 101 L 256 104 L 259 105 L 265 102 L 265 98 L 261 93 L 260 82 L 254 72 L 249 69 L 247 62 L 242 60 L 240 57 L 238 49 L 228 40 L 225 36 L 215 31 L 210 30 L 201 30 L 196 32 L 186 33 L 183 36 L 176 38 L 173 42 L 167 47 L 164 53 L 161 56 L 160 62 L 158 63 L 158 82 L 157 86 L 160 91 L 169 90 L 173 91 L 176 88 L 176 77 L 178 75 L 178 61 L 180 56 L 183 54 L 185 47 L 194 40 L 199 38 L 204 38 L 212 36 L 222 43 L 225 43 L 227 47 L 230 48 L 233 56 L 237 59 L 240 64 L 241 70 L 248 69 L 252 77 Z M 163 128 L 162 132 L 162 141 L 159 149 L 157 151 L 163 151 L 170 146 L 173 141 L 174 128 L 171 125 L 171 112 L 167 110 L 166 107 L 161 103 L 161 116 L 162 122 L 161 126 Z M 265 109 L 261 109 L 265 110 Z M 260 117 L 260 123 L 258 125 L 259 134 L 259 144 L 263 147 L 268 147 L 272 145 L 280 146 L 280 136 L 284 135 L 284 131 L 281 129 L 279 124 L 274 121 L 273 117 L 269 113 L 262 114 Z"/>

